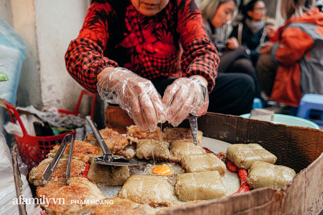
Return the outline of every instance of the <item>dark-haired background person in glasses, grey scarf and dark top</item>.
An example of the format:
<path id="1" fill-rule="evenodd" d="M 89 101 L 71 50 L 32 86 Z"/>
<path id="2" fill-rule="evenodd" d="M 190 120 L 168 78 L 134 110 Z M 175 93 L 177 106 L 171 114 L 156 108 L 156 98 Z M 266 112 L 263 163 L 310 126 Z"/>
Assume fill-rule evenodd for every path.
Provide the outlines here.
<path id="1" fill-rule="evenodd" d="M 272 23 L 266 23 L 266 6 L 261 0 L 251 0 L 242 10 L 242 20 L 232 24 L 230 37 L 238 39 L 239 44 L 245 45 L 251 52 L 251 61 L 256 65 L 259 53 L 256 47 L 268 41 L 267 31 L 274 31 Z M 267 24 L 267 25 L 266 25 Z M 275 25 L 275 24 L 274 24 Z"/>

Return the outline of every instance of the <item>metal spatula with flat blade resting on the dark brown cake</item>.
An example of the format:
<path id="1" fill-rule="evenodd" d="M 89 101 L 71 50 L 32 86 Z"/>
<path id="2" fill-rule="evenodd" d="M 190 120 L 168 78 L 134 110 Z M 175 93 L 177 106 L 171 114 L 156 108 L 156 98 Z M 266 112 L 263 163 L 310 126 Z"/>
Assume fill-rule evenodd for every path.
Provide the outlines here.
<path id="1" fill-rule="evenodd" d="M 101 150 L 103 152 L 103 157 L 97 157 L 94 158 L 94 162 L 97 164 L 103 164 L 103 165 L 111 165 L 111 166 L 134 166 L 139 165 L 139 163 L 135 160 L 126 159 L 126 158 L 119 158 L 115 157 L 111 154 L 109 148 L 107 148 L 100 132 L 98 131 L 97 127 L 94 125 L 94 122 L 92 121 L 91 116 L 86 116 L 85 119 L 89 123 L 97 141 L 99 142 L 99 145 L 101 147 Z"/>

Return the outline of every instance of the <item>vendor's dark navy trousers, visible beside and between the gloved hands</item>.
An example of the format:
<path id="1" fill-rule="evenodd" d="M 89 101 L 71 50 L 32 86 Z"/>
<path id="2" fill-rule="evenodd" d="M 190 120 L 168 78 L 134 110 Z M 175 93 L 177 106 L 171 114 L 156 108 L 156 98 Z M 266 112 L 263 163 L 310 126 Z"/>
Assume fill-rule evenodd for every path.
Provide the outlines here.
<path id="1" fill-rule="evenodd" d="M 152 82 L 161 97 L 175 79 L 163 79 Z M 254 98 L 254 81 L 243 73 L 218 73 L 216 86 L 209 94 L 207 111 L 241 115 L 250 113 Z"/>

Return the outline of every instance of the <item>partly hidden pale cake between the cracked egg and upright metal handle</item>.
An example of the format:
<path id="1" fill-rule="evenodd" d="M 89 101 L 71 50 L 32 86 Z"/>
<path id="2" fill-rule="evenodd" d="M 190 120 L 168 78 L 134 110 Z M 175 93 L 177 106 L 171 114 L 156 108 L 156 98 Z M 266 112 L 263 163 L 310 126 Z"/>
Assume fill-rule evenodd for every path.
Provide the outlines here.
<path id="1" fill-rule="evenodd" d="M 201 146 L 195 146 L 193 142 L 175 141 L 171 144 L 170 161 L 181 162 L 185 155 L 202 154 L 205 150 Z"/>

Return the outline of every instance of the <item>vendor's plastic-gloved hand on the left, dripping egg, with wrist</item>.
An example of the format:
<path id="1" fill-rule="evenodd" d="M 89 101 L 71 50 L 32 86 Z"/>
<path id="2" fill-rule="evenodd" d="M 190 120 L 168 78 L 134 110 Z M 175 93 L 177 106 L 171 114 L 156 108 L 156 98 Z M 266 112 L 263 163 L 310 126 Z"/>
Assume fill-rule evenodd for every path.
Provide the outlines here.
<path id="1" fill-rule="evenodd" d="M 166 121 L 161 96 L 151 81 L 122 68 L 105 68 L 97 82 L 100 97 L 111 104 L 119 104 L 141 130 L 155 131 L 157 123 Z"/>

